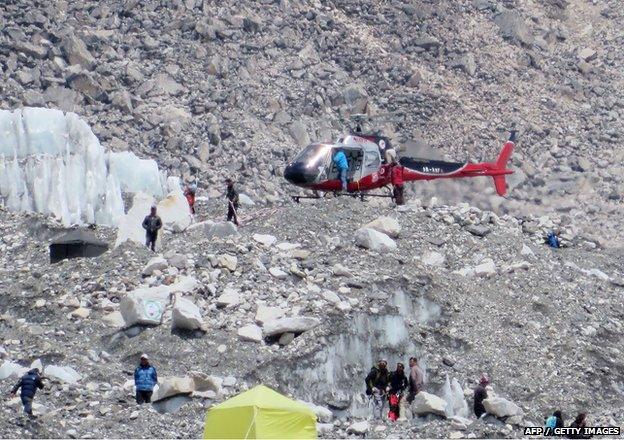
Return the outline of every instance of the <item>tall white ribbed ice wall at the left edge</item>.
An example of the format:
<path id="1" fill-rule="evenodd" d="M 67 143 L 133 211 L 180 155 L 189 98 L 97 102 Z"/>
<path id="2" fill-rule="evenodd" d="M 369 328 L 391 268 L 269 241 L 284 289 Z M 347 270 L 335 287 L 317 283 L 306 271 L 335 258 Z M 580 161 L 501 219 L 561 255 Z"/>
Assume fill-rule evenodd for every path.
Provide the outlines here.
<path id="1" fill-rule="evenodd" d="M 65 226 L 115 226 L 122 191 L 161 197 L 156 162 L 107 152 L 75 113 L 0 110 L 0 201 L 11 210 L 57 217 Z"/>

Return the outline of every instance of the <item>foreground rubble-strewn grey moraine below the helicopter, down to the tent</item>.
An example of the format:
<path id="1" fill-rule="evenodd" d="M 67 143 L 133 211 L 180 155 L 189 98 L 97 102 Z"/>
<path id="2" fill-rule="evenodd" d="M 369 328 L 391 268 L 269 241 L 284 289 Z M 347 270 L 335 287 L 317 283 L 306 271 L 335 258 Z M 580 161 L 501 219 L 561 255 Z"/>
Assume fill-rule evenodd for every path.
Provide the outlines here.
<path id="1" fill-rule="evenodd" d="M 201 210 L 220 214 L 212 202 Z M 397 220 L 375 226 L 396 236 L 388 238 L 395 250 L 367 250 L 353 238 L 380 211 Z M 51 266 L 53 225 L 0 215 L 4 362 L 39 359 L 79 375 L 74 383 L 52 377 L 36 398 L 37 422 L 16 416 L 19 399 L 3 401 L 2 437 L 197 437 L 210 405 L 256 383 L 325 408 L 318 410 L 323 435 L 344 437 L 362 429 L 356 423 L 367 414 L 360 402 L 369 364 L 412 354 L 426 365 L 428 392 L 443 395 L 448 376 L 469 394 L 486 372 L 497 395 L 523 415 L 507 424 L 433 415 L 370 422 L 366 435 L 516 437 L 554 408 L 621 424 L 620 253 L 580 243 L 553 250 L 517 219 L 467 205 L 392 211 L 385 202 L 341 198 L 248 208 L 239 235 L 208 224 L 167 234 L 162 260 L 128 244 Z M 111 232 L 97 233 L 112 240 Z M 117 327 L 123 320 L 115 311 L 131 291 L 188 279 L 196 282 L 178 295 L 198 308 L 195 330 L 173 329 L 169 302 L 159 325 Z M 299 317 L 298 324 L 273 332 L 280 316 Z M 137 407 L 128 381 L 142 352 L 161 382 L 188 376 L 203 388 L 172 385 L 182 397 L 167 408 L 182 405 L 177 412 Z M 3 380 L 3 389 L 14 380 Z"/>

